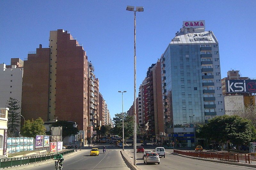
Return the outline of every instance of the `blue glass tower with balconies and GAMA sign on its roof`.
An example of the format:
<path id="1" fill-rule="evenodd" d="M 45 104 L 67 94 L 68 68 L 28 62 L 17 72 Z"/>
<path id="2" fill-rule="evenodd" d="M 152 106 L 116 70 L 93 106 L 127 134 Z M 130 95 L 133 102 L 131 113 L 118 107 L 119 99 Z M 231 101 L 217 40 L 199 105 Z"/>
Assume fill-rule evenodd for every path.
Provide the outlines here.
<path id="1" fill-rule="evenodd" d="M 182 146 L 195 144 L 193 135 L 184 135 L 193 134 L 190 124 L 225 114 L 219 44 L 204 25 L 183 21 L 161 57 L 165 132 L 173 139 L 183 134 Z"/>

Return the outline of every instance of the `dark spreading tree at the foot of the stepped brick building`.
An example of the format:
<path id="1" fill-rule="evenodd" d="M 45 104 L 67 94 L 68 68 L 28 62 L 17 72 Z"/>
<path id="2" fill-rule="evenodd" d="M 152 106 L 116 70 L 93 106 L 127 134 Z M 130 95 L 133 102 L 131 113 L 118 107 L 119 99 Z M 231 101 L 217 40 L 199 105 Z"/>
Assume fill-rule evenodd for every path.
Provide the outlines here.
<path id="1" fill-rule="evenodd" d="M 77 127 L 74 127 L 74 122 L 68 122 L 68 121 L 57 121 L 52 123 L 52 127 L 59 127 L 62 126 L 62 141 L 64 137 L 67 136 L 75 136 L 78 134 L 79 130 Z"/>

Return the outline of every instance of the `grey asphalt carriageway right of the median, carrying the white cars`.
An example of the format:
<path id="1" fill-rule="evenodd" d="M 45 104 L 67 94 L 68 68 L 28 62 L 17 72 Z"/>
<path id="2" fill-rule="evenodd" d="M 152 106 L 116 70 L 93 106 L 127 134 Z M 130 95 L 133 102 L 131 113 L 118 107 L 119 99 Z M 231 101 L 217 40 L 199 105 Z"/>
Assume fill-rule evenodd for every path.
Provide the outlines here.
<path id="1" fill-rule="evenodd" d="M 148 149 L 147 150 L 151 150 Z M 153 151 L 154 149 L 152 149 Z M 132 149 L 127 149 L 130 154 L 133 155 Z M 182 170 L 182 169 L 189 169 L 189 170 L 250 170 L 255 169 L 252 167 L 245 167 L 245 166 L 236 166 L 236 165 L 229 165 L 229 164 L 222 164 L 222 163 L 214 163 L 214 162 L 207 162 L 189 158 L 183 158 L 180 156 L 172 155 L 170 152 L 173 152 L 172 149 L 166 150 L 165 158 L 160 157 L 160 165 L 158 164 L 150 164 L 145 165 L 142 159 L 142 153 L 137 153 L 137 166 L 141 170 L 150 170 L 150 169 L 160 169 L 160 170 Z"/>

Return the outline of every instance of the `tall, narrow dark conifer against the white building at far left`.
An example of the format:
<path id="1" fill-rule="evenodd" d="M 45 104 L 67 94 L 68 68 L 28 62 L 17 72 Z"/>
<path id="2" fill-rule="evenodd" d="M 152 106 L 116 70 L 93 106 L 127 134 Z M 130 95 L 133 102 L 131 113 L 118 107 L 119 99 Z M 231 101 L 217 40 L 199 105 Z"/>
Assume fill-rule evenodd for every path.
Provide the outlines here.
<path id="1" fill-rule="evenodd" d="M 8 136 L 13 137 L 14 133 L 18 131 L 18 127 L 20 127 L 20 112 L 18 110 L 20 109 L 19 101 L 17 99 L 10 98 L 8 100 Z"/>

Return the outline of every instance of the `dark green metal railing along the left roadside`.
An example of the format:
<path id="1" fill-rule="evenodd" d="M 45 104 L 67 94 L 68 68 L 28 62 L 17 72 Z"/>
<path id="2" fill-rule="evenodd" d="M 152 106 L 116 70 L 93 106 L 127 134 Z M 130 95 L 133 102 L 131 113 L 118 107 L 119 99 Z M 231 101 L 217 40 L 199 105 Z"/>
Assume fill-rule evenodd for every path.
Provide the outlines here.
<path id="1" fill-rule="evenodd" d="M 66 151 L 60 152 L 62 155 L 67 155 L 69 153 L 74 152 L 74 149 L 69 149 Z M 56 153 L 48 154 L 48 155 L 39 155 L 39 156 L 28 156 L 28 157 L 19 157 L 19 158 L 3 158 L 0 159 L 0 168 L 25 165 L 25 164 L 33 164 L 36 162 L 41 162 L 45 160 L 50 160 L 54 158 Z"/>

